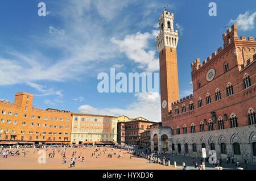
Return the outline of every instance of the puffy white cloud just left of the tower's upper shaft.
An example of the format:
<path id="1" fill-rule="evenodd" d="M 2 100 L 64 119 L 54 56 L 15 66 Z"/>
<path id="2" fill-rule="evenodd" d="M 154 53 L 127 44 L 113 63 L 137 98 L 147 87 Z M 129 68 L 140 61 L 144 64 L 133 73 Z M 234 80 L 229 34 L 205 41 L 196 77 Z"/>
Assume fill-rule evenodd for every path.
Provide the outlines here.
<path id="1" fill-rule="evenodd" d="M 139 69 L 145 69 L 148 72 L 159 70 L 159 61 L 156 58 L 154 50 L 148 50 L 150 40 L 154 39 L 156 32 L 127 35 L 125 39 L 118 40 L 112 38 L 112 43 L 118 46 L 120 52 L 138 64 Z"/>

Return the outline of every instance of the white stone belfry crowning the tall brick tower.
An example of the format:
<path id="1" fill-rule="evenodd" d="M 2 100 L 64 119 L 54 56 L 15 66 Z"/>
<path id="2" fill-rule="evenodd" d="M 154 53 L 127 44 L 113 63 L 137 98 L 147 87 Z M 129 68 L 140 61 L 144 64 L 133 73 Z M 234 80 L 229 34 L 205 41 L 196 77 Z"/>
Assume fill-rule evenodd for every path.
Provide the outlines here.
<path id="1" fill-rule="evenodd" d="M 164 10 L 159 18 L 160 33 L 156 37 L 158 51 L 164 47 L 176 48 L 179 40 L 177 30 L 174 31 L 174 14 Z"/>

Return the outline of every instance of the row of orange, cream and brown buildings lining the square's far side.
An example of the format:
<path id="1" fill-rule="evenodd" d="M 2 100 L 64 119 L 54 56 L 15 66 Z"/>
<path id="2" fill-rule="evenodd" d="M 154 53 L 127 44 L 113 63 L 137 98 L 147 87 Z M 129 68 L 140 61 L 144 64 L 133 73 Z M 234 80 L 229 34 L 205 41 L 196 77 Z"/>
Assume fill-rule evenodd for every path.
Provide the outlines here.
<path id="1" fill-rule="evenodd" d="M 154 122 L 143 117 L 93 115 L 32 106 L 34 96 L 15 94 L 0 101 L 0 145 L 119 144 L 136 145 Z"/>

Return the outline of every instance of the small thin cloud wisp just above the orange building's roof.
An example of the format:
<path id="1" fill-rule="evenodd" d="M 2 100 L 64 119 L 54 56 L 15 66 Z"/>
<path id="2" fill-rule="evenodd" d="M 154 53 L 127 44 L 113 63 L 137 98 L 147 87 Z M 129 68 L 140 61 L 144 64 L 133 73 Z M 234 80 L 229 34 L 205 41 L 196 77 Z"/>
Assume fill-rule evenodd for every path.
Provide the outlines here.
<path id="1" fill-rule="evenodd" d="M 47 89 L 46 86 L 42 86 L 42 85 L 39 85 L 37 83 L 32 83 L 32 82 L 28 82 L 27 85 L 42 93 L 40 95 L 35 95 L 35 96 L 56 95 L 57 98 L 63 98 L 63 93 L 61 90 L 54 90 L 52 88 Z"/>

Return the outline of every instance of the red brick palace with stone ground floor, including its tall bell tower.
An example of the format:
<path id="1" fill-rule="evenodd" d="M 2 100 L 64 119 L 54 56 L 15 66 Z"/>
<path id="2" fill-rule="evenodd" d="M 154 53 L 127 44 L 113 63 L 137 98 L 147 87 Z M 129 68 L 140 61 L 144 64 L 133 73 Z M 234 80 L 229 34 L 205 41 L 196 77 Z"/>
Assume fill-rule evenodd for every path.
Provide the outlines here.
<path id="1" fill-rule="evenodd" d="M 151 150 L 201 157 L 201 148 L 206 148 L 207 153 L 216 150 L 218 158 L 233 156 L 240 161 L 246 158 L 256 162 L 254 37 L 238 38 L 238 28 L 233 25 L 222 35 L 223 48 L 218 48 L 202 63 L 197 58 L 191 64 L 193 95 L 170 100 L 176 96 L 168 95 L 172 94 L 171 90 L 179 90 L 175 84 L 170 86 L 172 77 L 166 70 L 172 66 L 170 62 L 176 62 L 170 60 L 176 58 L 170 52 L 176 53 L 177 46 L 172 41 L 176 37 L 173 20 L 173 14 L 166 10 L 159 19 L 162 127 L 151 129 Z"/>

